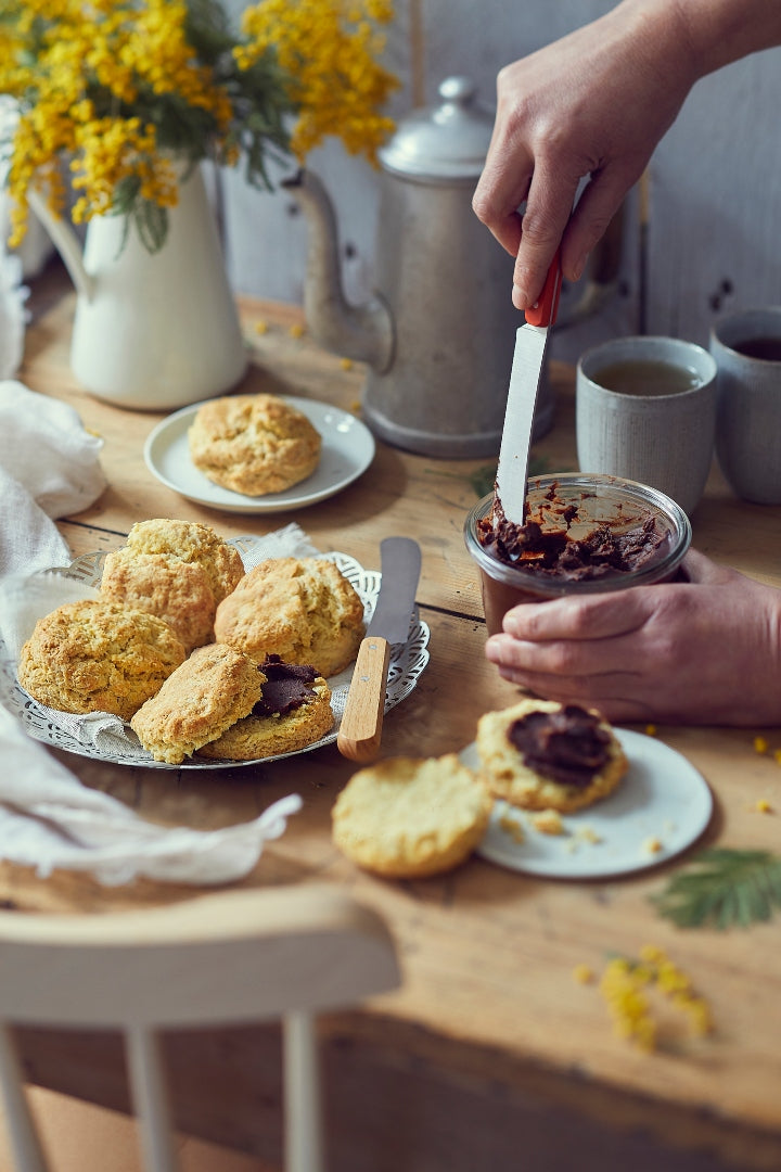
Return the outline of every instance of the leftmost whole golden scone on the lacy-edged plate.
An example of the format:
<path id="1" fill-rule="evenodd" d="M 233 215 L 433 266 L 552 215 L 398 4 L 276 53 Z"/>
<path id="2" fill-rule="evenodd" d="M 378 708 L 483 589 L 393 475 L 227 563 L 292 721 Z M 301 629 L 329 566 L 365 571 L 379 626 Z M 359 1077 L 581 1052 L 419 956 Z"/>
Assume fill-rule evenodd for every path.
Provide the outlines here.
<path id="1" fill-rule="evenodd" d="M 21 649 L 19 682 L 63 713 L 129 721 L 185 659 L 163 619 L 121 602 L 66 602 L 39 619 Z"/>

